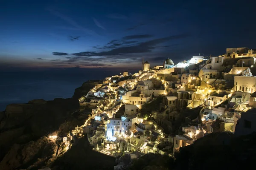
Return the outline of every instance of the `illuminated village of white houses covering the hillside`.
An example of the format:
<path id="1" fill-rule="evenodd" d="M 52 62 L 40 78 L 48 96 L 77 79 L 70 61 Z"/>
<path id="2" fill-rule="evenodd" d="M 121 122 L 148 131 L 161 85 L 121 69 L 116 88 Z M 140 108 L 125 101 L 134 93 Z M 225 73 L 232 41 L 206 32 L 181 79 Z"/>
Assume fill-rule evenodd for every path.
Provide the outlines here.
<path id="1" fill-rule="evenodd" d="M 143 62 L 138 73 L 107 77 L 80 99 L 80 105 L 95 108 L 90 124 L 70 136 L 87 133 L 95 150 L 132 157 L 134 152 L 169 154 L 214 131 L 252 133 L 256 130 L 255 64 L 256 51 L 248 48 L 227 48 L 224 55 L 195 56 L 176 65 L 169 58 L 153 68 Z M 159 110 L 142 115 L 143 105 L 151 107 L 160 96 Z M 197 107 L 201 110 L 195 119 L 185 117 L 183 135 L 171 133 L 180 109 Z"/>

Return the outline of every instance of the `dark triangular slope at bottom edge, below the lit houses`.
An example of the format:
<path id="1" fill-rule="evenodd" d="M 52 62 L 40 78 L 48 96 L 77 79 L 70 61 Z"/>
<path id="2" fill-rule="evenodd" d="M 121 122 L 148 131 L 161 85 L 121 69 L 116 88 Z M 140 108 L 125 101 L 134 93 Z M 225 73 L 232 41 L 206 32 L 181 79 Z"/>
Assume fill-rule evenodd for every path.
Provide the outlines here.
<path id="1" fill-rule="evenodd" d="M 51 170 L 113 170 L 115 160 L 112 156 L 93 151 L 85 135 L 55 160 Z"/>

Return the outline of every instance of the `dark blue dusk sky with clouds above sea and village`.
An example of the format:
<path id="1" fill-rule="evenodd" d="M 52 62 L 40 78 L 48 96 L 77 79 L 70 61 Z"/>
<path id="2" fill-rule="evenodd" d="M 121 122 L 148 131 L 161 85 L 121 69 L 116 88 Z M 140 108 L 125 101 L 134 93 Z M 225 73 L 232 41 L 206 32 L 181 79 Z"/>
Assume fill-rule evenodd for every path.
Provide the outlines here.
<path id="1" fill-rule="evenodd" d="M 0 67 L 140 67 L 256 48 L 253 1 L 2 0 Z"/>

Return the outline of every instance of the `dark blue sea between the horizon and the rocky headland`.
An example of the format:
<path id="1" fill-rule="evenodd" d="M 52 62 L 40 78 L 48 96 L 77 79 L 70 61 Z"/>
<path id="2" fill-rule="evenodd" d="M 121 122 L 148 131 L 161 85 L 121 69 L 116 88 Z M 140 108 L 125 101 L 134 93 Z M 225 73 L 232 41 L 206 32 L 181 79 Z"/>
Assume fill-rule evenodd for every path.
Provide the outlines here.
<path id="1" fill-rule="evenodd" d="M 0 111 L 4 111 L 8 104 L 27 103 L 32 99 L 69 98 L 83 82 L 115 74 L 120 72 L 82 68 L 1 72 Z"/>

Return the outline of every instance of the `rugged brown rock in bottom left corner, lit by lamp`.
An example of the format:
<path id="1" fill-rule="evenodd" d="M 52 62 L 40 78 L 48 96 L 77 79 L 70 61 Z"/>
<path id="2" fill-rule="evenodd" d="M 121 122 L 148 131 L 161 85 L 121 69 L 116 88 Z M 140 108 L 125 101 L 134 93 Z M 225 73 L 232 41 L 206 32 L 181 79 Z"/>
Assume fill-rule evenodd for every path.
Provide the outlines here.
<path id="1" fill-rule="evenodd" d="M 49 140 L 45 136 L 35 142 L 14 144 L 0 162 L 0 169 L 35 169 L 38 165 L 45 164 L 46 160 L 55 158 L 57 149 L 58 145 L 55 141 Z"/>

